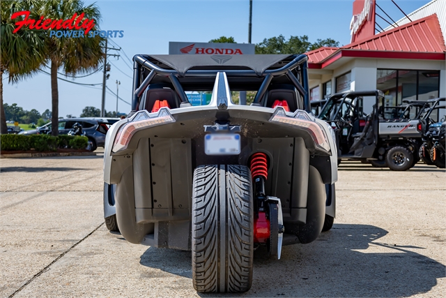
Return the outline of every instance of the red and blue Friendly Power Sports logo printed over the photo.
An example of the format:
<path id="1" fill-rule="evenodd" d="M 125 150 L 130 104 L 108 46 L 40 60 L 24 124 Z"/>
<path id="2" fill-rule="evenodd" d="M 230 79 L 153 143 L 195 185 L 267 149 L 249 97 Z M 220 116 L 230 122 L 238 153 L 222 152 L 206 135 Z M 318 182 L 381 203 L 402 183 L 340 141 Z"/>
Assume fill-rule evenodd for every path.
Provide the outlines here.
<path id="1" fill-rule="evenodd" d="M 40 16 L 40 19 L 33 20 L 29 17 L 30 11 L 24 10 L 11 15 L 11 20 L 15 20 L 18 17 L 23 16 L 23 20 L 15 22 L 16 28 L 13 33 L 17 33 L 22 27 L 28 27 L 29 29 L 37 30 L 49 30 L 49 37 L 72 37 L 72 38 L 92 38 L 100 36 L 102 38 L 122 38 L 124 37 L 123 30 L 92 30 L 95 27 L 95 20 L 89 20 L 85 17 L 84 13 L 77 15 L 75 13 L 70 19 L 67 20 L 52 20 Z M 63 30 L 62 30 L 63 29 Z"/>

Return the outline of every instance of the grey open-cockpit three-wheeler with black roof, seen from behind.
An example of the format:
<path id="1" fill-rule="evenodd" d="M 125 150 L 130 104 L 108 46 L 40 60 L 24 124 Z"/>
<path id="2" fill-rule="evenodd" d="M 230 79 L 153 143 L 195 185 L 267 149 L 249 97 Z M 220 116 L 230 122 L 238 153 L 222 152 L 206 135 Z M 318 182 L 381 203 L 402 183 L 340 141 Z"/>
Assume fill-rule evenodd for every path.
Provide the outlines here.
<path id="1" fill-rule="evenodd" d="M 198 292 L 247 291 L 254 250 L 280 258 L 282 245 L 331 228 L 337 149 L 310 112 L 307 56 L 133 60 L 132 115 L 107 133 L 109 228 L 192 251 Z M 212 99 L 192 106 L 190 91 Z M 231 91 L 256 91 L 254 103 L 235 105 Z"/>

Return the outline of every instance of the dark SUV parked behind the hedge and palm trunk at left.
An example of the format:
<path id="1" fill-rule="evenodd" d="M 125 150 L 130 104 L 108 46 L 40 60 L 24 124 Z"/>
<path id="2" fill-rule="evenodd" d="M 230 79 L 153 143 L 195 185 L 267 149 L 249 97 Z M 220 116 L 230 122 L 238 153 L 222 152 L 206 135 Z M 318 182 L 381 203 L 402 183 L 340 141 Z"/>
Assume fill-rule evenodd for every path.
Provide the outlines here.
<path id="1" fill-rule="evenodd" d="M 79 123 L 82 125 L 82 131 L 85 132 L 86 137 L 89 138 L 91 142 L 91 151 L 94 151 L 97 147 L 105 146 L 105 134 L 98 131 L 98 128 L 101 124 L 112 125 L 116 121 L 119 121 L 118 118 L 68 118 L 68 119 L 59 119 L 59 135 L 67 135 L 68 132 L 72 129 L 72 126 L 75 123 Z M 24 131 L 20 134 L 23 135 L 33 135 L 36 133 L 39 134 L 48 134 L 51 133 L 51 122 L 45 124 L 44 126 L 40 126 L 32 131 Z"/>

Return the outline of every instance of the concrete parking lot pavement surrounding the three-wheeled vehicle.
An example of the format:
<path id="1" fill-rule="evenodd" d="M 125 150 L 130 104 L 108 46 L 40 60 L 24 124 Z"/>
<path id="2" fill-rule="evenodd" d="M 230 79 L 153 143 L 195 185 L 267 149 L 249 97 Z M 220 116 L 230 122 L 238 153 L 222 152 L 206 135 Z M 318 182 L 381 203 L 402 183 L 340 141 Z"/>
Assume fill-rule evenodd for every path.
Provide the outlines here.
<path id="1" fill-rule="evenodd" d="M 0 161 L 0 297 L 196 297 L 190 252 L 134 245 L 102 218 L 102 156 Z M 339 166 L 334 228 L 252 289 L 219 297 L 444 297 L 445 171 Z M 443 293 L 443 294 L 442 294 Z M 214 297 L 214 295 L 200 295 Z"/>

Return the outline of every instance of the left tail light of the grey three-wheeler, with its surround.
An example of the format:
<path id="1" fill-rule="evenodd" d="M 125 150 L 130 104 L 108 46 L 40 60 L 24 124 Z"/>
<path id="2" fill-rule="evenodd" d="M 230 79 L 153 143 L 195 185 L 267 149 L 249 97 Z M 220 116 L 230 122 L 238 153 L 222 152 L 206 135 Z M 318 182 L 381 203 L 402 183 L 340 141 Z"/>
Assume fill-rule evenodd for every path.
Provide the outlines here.
<path id="1" fill-rule="evenodd" d="M 113 152 L 118 152 L 127 149 L 128 143 L 132 139 L 134 133 L 141 131 L 144 128 L 159 126 L 175 122 L 174 117 L 169 113 L 169 110 L 163 108 L 154 117 L 149 117 L 146 112 L 139 112 L 135 114 L 130 122 L 124 124 L 119 128 L 118 133 L 113 143 Z"/>

